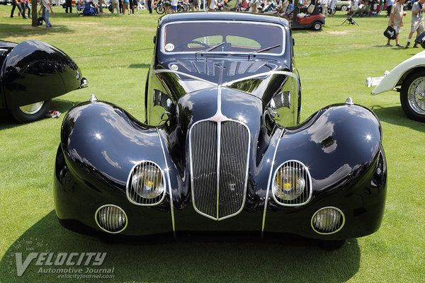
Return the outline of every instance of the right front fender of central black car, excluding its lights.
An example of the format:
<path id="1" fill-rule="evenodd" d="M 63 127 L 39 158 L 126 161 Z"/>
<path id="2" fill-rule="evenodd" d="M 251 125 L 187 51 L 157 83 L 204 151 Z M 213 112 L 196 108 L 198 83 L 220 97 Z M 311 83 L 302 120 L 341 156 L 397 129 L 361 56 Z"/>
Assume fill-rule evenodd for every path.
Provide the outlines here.
<path id="1" fill-rule="evenodd" d="M 278 144 L 271 176 L 290 160 L 300 161 L 310 172 L 311 198 L 294 208 L 281 205 L 273 197 L 271 178 L 264 231 L 339 240 L 365 236 L 379 229 L 385 209 L 387 169 L 382 129 L 372 111 L 361 105 L 330 105 L 301 125 L 286 129 Z M 346 220 L 341 231 L 329 235 L 313 231 L 310 220 L 323 207 L 341 209 Z M 285 216 L 303 229 L 295 231 L 285 224 Z"/>

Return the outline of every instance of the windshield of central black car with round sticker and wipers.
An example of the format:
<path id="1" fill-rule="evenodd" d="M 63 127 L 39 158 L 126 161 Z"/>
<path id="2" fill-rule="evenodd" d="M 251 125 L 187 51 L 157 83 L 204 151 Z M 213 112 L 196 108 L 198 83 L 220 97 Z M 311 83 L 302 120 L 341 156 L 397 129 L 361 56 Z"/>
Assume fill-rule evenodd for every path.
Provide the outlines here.
<path id="1" fill-rule="evenodd" d="M 251 53 L 274 47 L 263 54 L 280 55 L 285 51 L 285 30 L 272 23 L 242 21 L 187 21 L 168 23 L 162 30 L 161 51 Z M 278 45 L 278 46 L 277 46 Z"/>

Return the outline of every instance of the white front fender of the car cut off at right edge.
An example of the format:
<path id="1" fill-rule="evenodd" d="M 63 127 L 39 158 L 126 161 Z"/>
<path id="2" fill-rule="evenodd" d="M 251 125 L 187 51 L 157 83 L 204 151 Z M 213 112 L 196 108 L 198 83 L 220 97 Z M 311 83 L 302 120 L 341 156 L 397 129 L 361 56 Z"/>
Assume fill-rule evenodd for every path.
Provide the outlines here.
<path id="1" fill-rule="evenodd" d="M 413 69 L 425 67 L 425 51 L 419 52 L 418 54 L 410 57 L 404 62 L 400 63 L 390 71 L 387 75 L 382 78 L 382 81 L 373 89 L 370 93 L 372 95 L 383 93 L 385 91 L 391 91 L 395 86 L 399 86 L 404 79 L 405 74 L 409 74 Z"/>

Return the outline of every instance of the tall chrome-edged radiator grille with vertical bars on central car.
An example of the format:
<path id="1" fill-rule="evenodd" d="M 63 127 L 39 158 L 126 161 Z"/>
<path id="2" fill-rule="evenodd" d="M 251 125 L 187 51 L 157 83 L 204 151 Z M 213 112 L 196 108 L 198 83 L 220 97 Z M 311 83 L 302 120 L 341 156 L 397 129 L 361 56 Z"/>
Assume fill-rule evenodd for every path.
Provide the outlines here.
<path id="1" fill-rule="evenodd" d="M 233 120 L 205 120 L 191 128 L 192 200 L 195 209 L 221 220 L 244 207 L 249 130 Z"/>

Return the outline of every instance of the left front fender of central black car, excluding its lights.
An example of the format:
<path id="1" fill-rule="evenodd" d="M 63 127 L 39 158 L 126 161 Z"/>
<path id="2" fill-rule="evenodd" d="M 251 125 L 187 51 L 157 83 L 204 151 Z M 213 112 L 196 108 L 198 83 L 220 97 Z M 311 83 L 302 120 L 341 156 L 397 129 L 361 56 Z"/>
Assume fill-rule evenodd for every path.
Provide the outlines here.
<path id="1" fill-rule="evenodd" d="M 166 190 L 160 204 L 148 207 L 129 202 L 128 178 L 140 161 L 152 161 L 165 172 Z M 57 216 L 99 231 L 96 209 L 114 204 L 125 209 L 130 219 L 125 234 L 172 231 L 166 172 L 159 129 L 138 122 L 111 103 L 81 103 L 69 110 L 62 124 L 54 178 Z M 77 231 L 78 226 L 72 224 L 69 229 Z"/>

